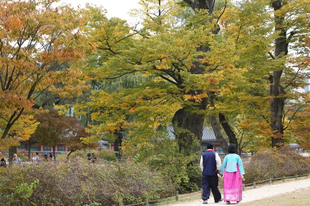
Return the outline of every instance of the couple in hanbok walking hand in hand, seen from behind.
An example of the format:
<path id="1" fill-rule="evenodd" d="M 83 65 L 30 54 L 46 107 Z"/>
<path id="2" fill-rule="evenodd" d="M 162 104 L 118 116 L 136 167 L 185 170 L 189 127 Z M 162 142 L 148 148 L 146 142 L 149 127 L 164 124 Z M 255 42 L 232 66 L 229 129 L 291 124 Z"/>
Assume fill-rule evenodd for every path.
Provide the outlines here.
<path id="1" fill-rule="evenodd" d="M 214 152 L 214 144 L 207 144 L 207 151 L 202 154 L 200 159 L 203 204 L 208 204 L 210 189 L 212 190 L 215 203 L 223 201 L 221 192 L 218 189 L 218 175 L 224 176 L 224 201 L 230 204 L 231 202 L 238 203 L 242 200 L 244 169 L 242 160 L 236 152 L 236 145 L 230 144 L 228 154 L 225 156 L 222 165 L 220 156 Z"/>

